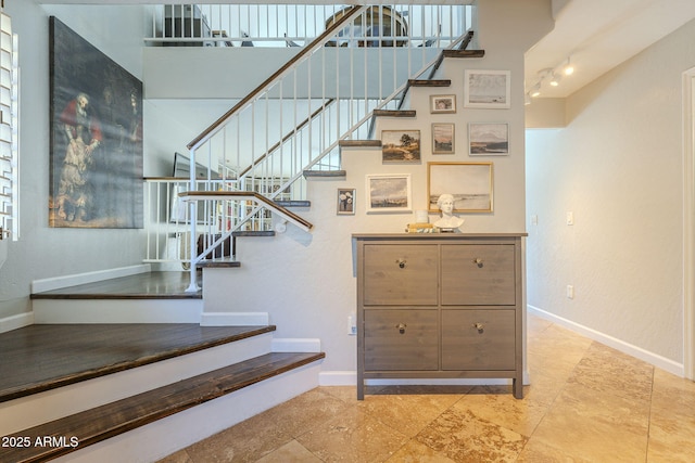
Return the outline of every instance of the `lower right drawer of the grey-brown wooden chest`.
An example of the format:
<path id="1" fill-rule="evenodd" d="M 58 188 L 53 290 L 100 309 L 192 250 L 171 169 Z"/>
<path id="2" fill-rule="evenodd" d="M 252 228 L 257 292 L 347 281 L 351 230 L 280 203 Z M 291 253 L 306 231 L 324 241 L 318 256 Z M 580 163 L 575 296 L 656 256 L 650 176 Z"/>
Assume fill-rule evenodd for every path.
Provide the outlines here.
<path id="1" fill-rule="evenodd" d="M 443 370 L 514 370 L 515 311 L 443 310 Z"/>

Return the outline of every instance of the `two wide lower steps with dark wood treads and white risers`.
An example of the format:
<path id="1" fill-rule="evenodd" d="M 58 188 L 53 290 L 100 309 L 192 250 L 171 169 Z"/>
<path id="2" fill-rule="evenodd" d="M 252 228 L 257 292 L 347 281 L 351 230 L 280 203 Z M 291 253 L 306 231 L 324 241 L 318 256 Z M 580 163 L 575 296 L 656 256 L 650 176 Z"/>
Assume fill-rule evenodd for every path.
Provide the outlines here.
<path id="1" fill-rule="evenodd" d="M 276 351 L 274 332 L 169 323 L 0 334 L 0 461 L 155 461 L 316 387 L 324 353 Z"/>

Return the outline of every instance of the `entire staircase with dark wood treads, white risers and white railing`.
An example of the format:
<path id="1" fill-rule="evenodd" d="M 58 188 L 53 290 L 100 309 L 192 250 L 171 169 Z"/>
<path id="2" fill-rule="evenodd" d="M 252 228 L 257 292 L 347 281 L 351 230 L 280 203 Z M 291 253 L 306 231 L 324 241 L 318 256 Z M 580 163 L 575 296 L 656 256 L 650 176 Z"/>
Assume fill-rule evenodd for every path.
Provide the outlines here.
<path id="1" fill-rule="evenodd" d="M 349 9 L 342 21 L 349 22 L 363 12 L 364 8 Z M 337 21 L 334 29 L 320 37 L 313 49 L 306 47 L 306 53 L 326 53 L 330 48 L 326 43 L 331 40 L 338 43 L 336 34 L 342 30 L 343 25 Z M 460 42 L 466 42 L 466 38 L 459 38 L 452 47 Z M 340 47 L 332 47 L 329 51 L 338 53 L 337 56 L 351 52 Z M 22 378 L 22 364 L 37 364 L 36 358 L 41 357 L 36 352 L 13 351 L 17 345 L 26 344 L 23 336 L 31 335 L 42 335 L 43 339 L 59 343 L 58 347 L 41 343 L 49 348 L 42 352 L 48 359 L 47 364 L 77 364 L 83 369 L 38 380 L 27 376 L 17 384 L 7 384 L 4 391 L 0 389 L 0 411 L 3 417 L 10 417 L 0 425 L 0 435 L 13 437 L 11 441 L 15 443 L 0 448 L 0 461 L 58 458 L 84 462 L 153 461 L 315 387 L 324 358 L 318 340 L 277 339 L 274 338 L 276 327 L 269 324 L 268 313 L 244 312 L 242 308 L 227 311 L 225 306 L 233 299 L 226 297 L 224 292 L 226 272 L 235 271 L 229 267 L 241 266 L 235 258 L 235 242 L 257 234 L 271 237 L 280 231 L 277 228 L 249 230 L 244 227 L 251 217 L 257 217 L 265 210 L 273 211 L 276 227 L 278 223 L 291 223 L 308 232 L 312 223 L 289 210 L 309 205 L 302 191 L 305 187 L 296 188 L 295 183 L 301 184 L 305 179 L 344 178 L 348 171 L 342 163 L 342 150 L 381 149 L 381 141 L 375 133 L 383 120 L 414 120 L 416 117 L 416 111 L 407 108 L 414 89 L 451 85 L 451 81 L 435 78 L 437 68 L 444 59 L 482 56 L 479 51 L 455 51 L 462 50 L 440 51 L 430 60 L 431 50 L 425 50 L 426 64 L 418 72 L 408 73 L 409 80 L 394 83 L 386 97 L 380 91 L 377 100 L 365 100 L 365 108 L 355 113 L 346 126 L 338 123 L 340 131 L 326 137 L 318 153 L 308 157 L 299 156 L 305 146 L 296 140 L 302 139 L 301 133 L 305 130 L 311 132 L 318 130 L 317 127 L 325 130 L 330 118 L 339 115 L 339 112 L 330 111 L 341 106 L 338 102 L 340 95 L 315 98 L 320 101 L 320 107 L 307 105 L 308 116 L 300 117 L 301 124 L 295 123 L 294 127 L 301 125 L 302 128 L 295 130 L 293 138 L 287 138 L 285 130 L 278 137 L 281 140 L 279 144 L 266 140 L 269 147 L 257 150 L 250 159 L 241 160 L 239 153 L 229 151 L 229 146 L 223 147 L 222 152 L 211 149 L 217 142 L 216 136 L 227 138 L 225 127 L 237 113 L 249 107 L 253 113 L 264 104 L 267 111 L 269 95 L 279 91 L 275 87 L 277 82 L 270 79 L 262 86 L 263 97 L 258 97 L 261 92 L 250 95 L 248 101 L 191 142 L 192 166 L 198 151 L 207 153 L 210 157 L 205 164 L 208 166 L 227 166 L 228 160 L 233 159 L 236 165 L 231 170 L 247 173 L 243 178 L 227 178 L 223 173 L 222 179 L 207 179 L 216 182 L 215 188 L 206 188 L 205 191 L 190 188 L 182 193 L 181 197 L 190 202 L 188 217 L 198 218 L 198 207 L 202 205 L 205 210 L 215 211 L 215 226 L 226 223 L 231 216 L 233 223 L 203 229 L 203 235 L 215 239 L 205 242 L 203 252 L 198 256 L 190 256 L 191 284 L 184 288 L 179 286 L 174 293 L 169 291 L 166 298 L 129 293 L 94 299 L 93 294 L 80 293 L 75 287 L 35 290 L 31 298 L 39 324 L 0 335 L 1 350 L 11 352 L 1 361 L 15 362 L 2 364 L 1 370 L 13 372 L 5 375 L 9 378 Z M 296 73 L 291 67 L 280 69 L 274 79 L 285 72 Z M 296 74 L 293 78 L 298 78 Z M 238 133 L 237 139 L 239 137 Z M 211 155 L 213 152 L 214 156 Z M 291 152 L 299 157 L 278 160 L 276 154 L 282 152 Z M 292 168 L 289 173 L 285 170 L 288 165 Z M 192 168 L 191 172 L 194 171 Z M 195 181 L 191 179 L 189 185 L 193 187 Z M 270 184 L 273 189 L 268 188 Z M 286 191 L 289 191 L 288 197 L 281 196 L 280 193 Z M 199 233 L 197 223 L 193 223 L 188 236 L 190 249 L 197 248 Z M 230 243 L 227 253 L 226 240 Z M 214 256 L 218 246 L 222 246 L 222 258 L 204 259 L 211 253 Z M 225 272 L 224 276 L 222 272 Z M 200 273 L 203 274 L 203 290 L 198 285 Z M 144 275 L 153 274 L 144 266 L 123 278 L 140 281 Z M 198 336 L 204 339 L 199 338 L 187 346 L 166 346 L 164 342 L 153 347 L 153 338 L 166 332 L 173 332 L 172 338 L 175 339 L 185 338 L 181 333 L 191 332 L 199 333 Z M 134 340 L 137 333 L 148 335 Z M 89 336 L 91 334 L 93 337 Z M 51 346 L 64 358 L 51 358 Z M 99 352 L 108 355 L 90 364 L 87 359 Z M 119 357 L 115 358 L 114 353 Z M 31 361 L 27 360 L 29 356 Z"/>

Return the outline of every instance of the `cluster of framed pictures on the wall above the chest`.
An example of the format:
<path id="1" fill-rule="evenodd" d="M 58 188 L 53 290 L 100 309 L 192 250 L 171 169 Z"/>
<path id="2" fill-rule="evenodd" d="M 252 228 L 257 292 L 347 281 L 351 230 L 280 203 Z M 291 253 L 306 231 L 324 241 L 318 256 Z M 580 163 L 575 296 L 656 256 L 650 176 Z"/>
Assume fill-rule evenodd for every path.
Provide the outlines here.
<path id="1" fill-rule="evenodd" d="M 494 213 L 495 159 L 513 153 L 510 116 L 505 111 L 511 107 L 511 73 L 464 69 L 462 74 L 463 78 L 452 81 L 445 91 L 425 87 L 429 89 L 426 98 L 413 98 L 410 110 L 418 117 L 389 119 L 381 125 L 377 131 L 381 166 L 392 167 L 392 171 L 367 172 L 359 203 L 355 201 L 357 189 L 338 189 L 338 215 L 354 215 L 363 202 L 366 214 L 410 213 L 414 194 L 416 200 L 420 194 L 426 196 L 427 213 L 437 214 L 437 200 L 443 193 L 454 196 L 455 213 Z M 422 188 L 420 173 L 426 191 L 414 193 L 414 183 L 417 190 Z M 418 182 L 412 181 L 412 176 Z"/>

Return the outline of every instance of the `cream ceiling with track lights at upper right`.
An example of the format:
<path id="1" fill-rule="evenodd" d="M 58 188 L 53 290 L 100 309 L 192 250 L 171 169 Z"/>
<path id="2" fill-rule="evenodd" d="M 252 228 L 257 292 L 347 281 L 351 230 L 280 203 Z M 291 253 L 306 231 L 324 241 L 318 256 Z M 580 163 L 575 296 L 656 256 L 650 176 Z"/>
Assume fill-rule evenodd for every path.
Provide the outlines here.
<path id="1" fill-rule="evenodd" d="M 469 3 L 443 0 L 434 3 Z M 494 0 L 478 0 L 494 1 Z M 549 0 L 555 28 L 526 55 L 527 90 L 540 79 L 542 69 L 558 68 L 569 57 L 576 68 L 558 87 L 542 82 L 542 98 L 565 98 L 640 53 L 695 17 L 695 0 Z M 46 4 L 114 4 L 114 0 L 37 0 Z M 191 0 L 118 0 L 117 3 L 190 3 Z M 193 1 L 194 2 L 194 1 Z M 201 0 L 201 3 L 237 3 L 233 0 Z M 333 3 L 313 0 L 314 3 Z M 415 0 L 414 3 L 430 1 Z M 263 3 L 260 0 L 243 3 Z M 295 3 L 274 0 L 273 3 Z M 351 3 L 363 3 L 353 1 Z M 369 3 L 384 3 L 372 1 Z M 390 2 L 389 2 L 390 3 Z"/>

